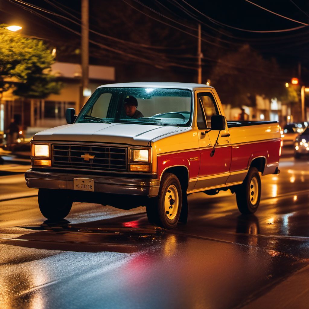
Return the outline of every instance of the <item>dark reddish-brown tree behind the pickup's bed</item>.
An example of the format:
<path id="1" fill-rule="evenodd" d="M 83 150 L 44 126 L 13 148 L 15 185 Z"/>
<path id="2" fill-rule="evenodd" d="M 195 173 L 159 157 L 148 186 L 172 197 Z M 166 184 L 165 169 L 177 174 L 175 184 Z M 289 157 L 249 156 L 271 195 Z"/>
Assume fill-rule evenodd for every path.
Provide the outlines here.
<path id="1" fill-rule="evenodd" d="M 280 97 L 284 83 L 275 60 L 265 60 L 249 45 L 218 59 L 211 74 L 223 104 L 252 106 L 255 95 Z"/>

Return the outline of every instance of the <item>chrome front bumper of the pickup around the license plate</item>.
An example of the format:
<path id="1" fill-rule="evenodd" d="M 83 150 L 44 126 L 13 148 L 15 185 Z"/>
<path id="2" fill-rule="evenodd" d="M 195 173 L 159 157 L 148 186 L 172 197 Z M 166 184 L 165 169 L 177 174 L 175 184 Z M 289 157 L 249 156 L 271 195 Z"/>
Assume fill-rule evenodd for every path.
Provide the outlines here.
<path id="1" fill-rule="evenodd" d="M 29 188 L 67 190 L 74 190 L 74 178 L 90 178 L 93 179 L 95 183 L 94 192 L 138 195 L 144 197 L 156 197 L 160 187 L 159 180 L 61 174 L 32 170 L 26 171 L 25 178 Z M 81 192 L 79 190 L 77 191 Z"/>

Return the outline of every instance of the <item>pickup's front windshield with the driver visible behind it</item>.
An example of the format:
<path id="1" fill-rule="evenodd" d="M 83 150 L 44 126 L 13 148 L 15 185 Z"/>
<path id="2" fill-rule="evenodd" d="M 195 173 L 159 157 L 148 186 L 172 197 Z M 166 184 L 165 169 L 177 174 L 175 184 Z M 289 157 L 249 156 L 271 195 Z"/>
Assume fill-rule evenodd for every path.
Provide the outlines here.
<path id="1" fill-rule="evenodd" d="M 190 90 L 104 87 L 93 93 L 75 123 L 187 126 L 191 121 L 191 114 Z"/>

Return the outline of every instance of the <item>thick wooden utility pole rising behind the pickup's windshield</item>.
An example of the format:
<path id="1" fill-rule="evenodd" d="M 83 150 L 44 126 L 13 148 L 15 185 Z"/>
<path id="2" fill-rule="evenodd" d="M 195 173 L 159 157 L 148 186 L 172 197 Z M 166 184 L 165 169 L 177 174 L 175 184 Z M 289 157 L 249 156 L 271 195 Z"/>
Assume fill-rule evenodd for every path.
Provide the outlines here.
<path id="1" fill-rule="evenodd" d="M 82 37 L 81 37 L 81 56 L 82 56 L 82 78 L 80 87 L 79 110 L 85 104 L 85 92 L 88 90 L 89 82 L 89 2 L 82 0 Z"/>

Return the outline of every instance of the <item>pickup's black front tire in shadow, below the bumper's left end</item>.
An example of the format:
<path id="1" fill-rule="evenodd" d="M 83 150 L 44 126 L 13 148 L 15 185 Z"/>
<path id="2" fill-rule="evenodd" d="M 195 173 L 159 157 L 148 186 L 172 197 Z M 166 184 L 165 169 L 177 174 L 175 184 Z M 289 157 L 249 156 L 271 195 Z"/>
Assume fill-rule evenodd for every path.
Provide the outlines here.
<path id="1" fill-rule="evenodd" d="M 55 221 L 65 218 L 73 204 L 68 191 L 61 189 L 40 188 L 38 202 L 42 215 Z"/>

